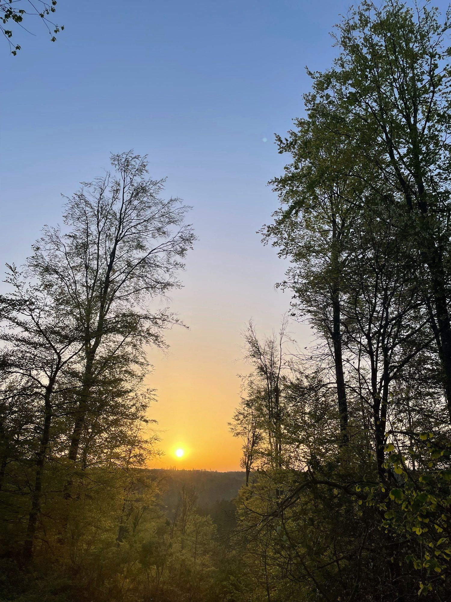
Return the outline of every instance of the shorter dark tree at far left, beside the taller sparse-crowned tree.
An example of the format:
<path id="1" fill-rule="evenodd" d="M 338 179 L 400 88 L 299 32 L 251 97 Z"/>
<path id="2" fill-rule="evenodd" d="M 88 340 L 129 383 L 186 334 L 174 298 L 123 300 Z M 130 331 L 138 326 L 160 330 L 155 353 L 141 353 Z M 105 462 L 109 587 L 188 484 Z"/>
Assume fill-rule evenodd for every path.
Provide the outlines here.
<path id="1" fill-rule="evenodd" d="M 4 324 L 0 334 L 5 354 L 3 370 L 9 381 L 5 393 L 11 400 L 27 399 L 38 415 L 37 420 L 32 421 L 39 434 L 23 547 L 23 554 L 29 559 L 41 512 L 43 471 L 51 443 L 52 420 L 55 412 L 61 412 L 61 408 L 57 408 L 58 399 L 61 401 L 61 393 L 68 386 L 63 374 L 81 353 L 82 343 L 66 308 L 56 305 L 38 284 L 27 282 L 14 265 L 10 266 L 6 282 L 13 291 L 0 299 Z M 11 382 L 13 379 L 16 382 Z M 8 462 L 7 450 L 3 462 Z"/>

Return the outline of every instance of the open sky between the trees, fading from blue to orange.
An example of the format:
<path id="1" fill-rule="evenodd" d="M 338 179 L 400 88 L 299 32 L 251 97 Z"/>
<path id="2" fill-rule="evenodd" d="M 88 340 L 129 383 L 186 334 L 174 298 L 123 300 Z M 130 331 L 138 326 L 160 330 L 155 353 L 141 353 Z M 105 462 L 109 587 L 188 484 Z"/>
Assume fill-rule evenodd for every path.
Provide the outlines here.
<path id="1" fill-rule="evenodd" d="M 102 173 L 109 152 L 148 154 L 167 194 L 194 205 L 199 240 L 173 297 L 190 329 L 168 334 L 166 356 L 150 350 L 165 452 L 155 466 L 239 468 L 227 421 L 246 371 L 240 332 L 251 317 L 277 328 L 289 305 L 274 290 L 284 262 L 256 234 L 285 163 L 274 132 L 302 114 L 305 66 L 330 64 L 329 32 L 349 4 L 59 0 L 56 43 L 35 26 L 17 57 L 0 49 L 2 263 L 25 259 L 41 226 L 60 221 L 60 193 Z M 306 344 L 306 326 L 291 331 Z"/>

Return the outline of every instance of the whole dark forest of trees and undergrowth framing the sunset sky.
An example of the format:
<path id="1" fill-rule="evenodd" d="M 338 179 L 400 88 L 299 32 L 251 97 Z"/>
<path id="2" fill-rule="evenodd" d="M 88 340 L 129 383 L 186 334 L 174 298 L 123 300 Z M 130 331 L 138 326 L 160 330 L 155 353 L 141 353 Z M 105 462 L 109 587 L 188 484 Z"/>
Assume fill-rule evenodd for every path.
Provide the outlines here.
<path id="1" fill-rule="evenodd" d="M 149 349 L 196 236 L 146 157 L 111 155 L 7 264 L 0 600 L 451 600 L 450 31 L 363 0 L 277 135 L 259 235 L 290 305 L 242 333 L 241 473 L 149 469 Z"/>

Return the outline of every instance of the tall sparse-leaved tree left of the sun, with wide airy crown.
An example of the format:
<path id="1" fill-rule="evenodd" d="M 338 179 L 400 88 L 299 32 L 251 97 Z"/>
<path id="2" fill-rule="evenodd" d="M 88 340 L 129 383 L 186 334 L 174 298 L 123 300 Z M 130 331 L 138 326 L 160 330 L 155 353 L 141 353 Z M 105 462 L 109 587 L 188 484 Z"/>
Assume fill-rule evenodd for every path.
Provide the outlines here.
<path id="1" fill-rule="evenodd" d="M 163 327 L 176 322 L 146 308 L 180 286 L 176 273 L 194 234 L 183 224 L 188 207 L 162 199 L 164 180 L 146 177 L 146 158 L 112 155 L 114 175 L 84 183 L 67 199 L 64 223 L 44 228 L 28 270 L 58 303 L 70 308 L 84 342 L 81 387 L 68 458 L 76 462 L 96 379 L 124 346 L 162 344 Z"/>

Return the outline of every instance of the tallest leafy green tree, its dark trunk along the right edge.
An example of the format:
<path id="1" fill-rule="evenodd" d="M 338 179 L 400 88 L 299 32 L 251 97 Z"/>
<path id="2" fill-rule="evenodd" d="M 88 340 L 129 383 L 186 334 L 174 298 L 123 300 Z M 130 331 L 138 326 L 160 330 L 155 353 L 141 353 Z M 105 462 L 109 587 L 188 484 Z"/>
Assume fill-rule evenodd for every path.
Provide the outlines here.
<path id="1" fill-rule="evenodd" d="M 311 118 L 330 108 L 342 116 L 339 127 L 378 178 L 352 164 L 350 175 L 381 195 L 388 187 L 411 222 L 406 234 L 432 293 L 429 321 L 451 418 L 449 26 L 449 16 L 440 23 L 429 1 L 421 8 L 362 2 L 337 28 L 334 67 L 312 74 Z"/>

